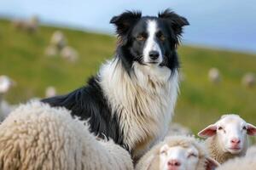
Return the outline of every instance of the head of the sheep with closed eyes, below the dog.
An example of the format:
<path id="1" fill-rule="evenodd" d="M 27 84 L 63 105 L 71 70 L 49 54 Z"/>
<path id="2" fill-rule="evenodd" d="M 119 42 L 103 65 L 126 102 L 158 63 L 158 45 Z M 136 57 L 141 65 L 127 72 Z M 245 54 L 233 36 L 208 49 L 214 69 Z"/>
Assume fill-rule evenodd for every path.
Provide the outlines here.
<path id="1" fill-rule="evenodd" d="M 156 164 L 158 166 L 153 161 L 154 168 L 149 167 L 148 169 L 197 170 L 205 167 L 206 170 L 210 170 L 219 166 L 217 161 L 207 156 L 205 148 L 201 144 L 197 144 L 195 139 L 190 137 L 182 138 L 184 139 L 183 141 L 179 140 L 178 137 L 170 137 L 174 143 L 168 144 L 166 142 L 166 144 L 163 144 L 157 156 L 158 163 Z"/>

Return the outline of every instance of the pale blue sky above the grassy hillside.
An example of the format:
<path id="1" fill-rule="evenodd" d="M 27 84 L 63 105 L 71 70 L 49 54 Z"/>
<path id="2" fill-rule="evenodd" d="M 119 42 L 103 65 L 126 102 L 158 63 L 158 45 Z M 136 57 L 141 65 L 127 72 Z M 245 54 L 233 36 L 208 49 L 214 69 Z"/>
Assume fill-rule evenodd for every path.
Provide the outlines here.
<path id="1" fill-rule="evenodd" d="M 125 9 L 155 15 L 165 8 L 189 20 L 183 43 L 256 52 L 255 0 L 1 0 L 0 16 L 28 18 L 37 14 L 44 24 L 113 34 L 109 25 L 113 15 Z"/>

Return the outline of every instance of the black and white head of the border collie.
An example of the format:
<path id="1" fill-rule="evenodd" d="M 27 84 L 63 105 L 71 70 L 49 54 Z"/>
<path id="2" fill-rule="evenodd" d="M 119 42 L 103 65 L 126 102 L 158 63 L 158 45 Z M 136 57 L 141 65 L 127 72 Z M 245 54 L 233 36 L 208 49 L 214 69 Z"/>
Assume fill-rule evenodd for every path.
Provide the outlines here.
<path id="1" fill-rule="evenodd" d="M 140 12 L 126 11 L 114 16 L 110 23 L 116 26 L 119 37 L 118 54 L 126 68 L 134 62 L 140 65 L 178 67 L 176 48 L 183 26 L 189 22 L 169 9 L 158 17 L 142 16 Z"/>

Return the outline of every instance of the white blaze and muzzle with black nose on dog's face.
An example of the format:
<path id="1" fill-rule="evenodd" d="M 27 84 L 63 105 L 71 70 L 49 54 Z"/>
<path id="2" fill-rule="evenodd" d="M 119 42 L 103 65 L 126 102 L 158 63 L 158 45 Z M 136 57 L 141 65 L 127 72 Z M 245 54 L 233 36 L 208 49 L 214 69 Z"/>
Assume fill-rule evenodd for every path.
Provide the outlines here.
<path id="1" fill-rule="evenodd" d="M 143 61 L 148 64 L 160 64 L 163 61 L 163 56 L 160 44 L 157 41 L 157 32 L 159 28 L 156 20 L 147 20 L 148 38 L 143 49 Z"/>

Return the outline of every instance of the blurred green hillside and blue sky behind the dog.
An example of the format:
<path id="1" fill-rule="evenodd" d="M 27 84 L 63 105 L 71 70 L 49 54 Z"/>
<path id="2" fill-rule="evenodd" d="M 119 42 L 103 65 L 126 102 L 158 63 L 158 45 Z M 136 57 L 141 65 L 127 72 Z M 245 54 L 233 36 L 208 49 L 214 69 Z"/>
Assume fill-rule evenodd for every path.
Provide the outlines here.
<path id="1" fill-rule="evenodd" d="M 254 0 L 2 0 L 0 75 L 14 85 L 0 92 L 2 103 L 83 86 L 113 56 L 113 15 L 126 9 L 156 15 L 166 8 L 190 23 L 178 49 L 182 74 L 174 121 L 197 133 L 220 115 L 236 113 L 255 125 Z"/>

